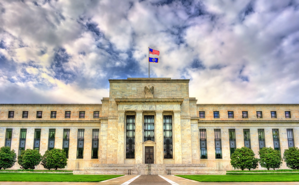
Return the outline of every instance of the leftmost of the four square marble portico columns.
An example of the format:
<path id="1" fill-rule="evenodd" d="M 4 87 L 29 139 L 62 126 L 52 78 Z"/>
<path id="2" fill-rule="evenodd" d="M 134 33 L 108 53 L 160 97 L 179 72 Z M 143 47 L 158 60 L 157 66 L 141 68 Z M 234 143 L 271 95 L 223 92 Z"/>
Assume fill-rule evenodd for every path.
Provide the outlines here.
<path id="1" fill-rule="evenodd" d="M 124 147 L 123 147 L 123 135 L 124 135 L 124 125 L 125 125 L 125 111 L 118 111 L 118 127 L 117 127 L 117 135 L 118 135 L 118 144 L 117 144 L 117 164 L 123 164 L 124 159 Z"/>

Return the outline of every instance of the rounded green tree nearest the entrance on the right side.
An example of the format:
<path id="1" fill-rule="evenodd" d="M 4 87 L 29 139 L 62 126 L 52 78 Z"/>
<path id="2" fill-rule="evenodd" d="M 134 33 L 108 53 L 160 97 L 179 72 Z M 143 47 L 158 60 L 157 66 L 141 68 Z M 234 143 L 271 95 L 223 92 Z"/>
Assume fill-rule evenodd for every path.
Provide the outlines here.
<path id="1" fill-rule="evenodd" d="M 234 169 L 255 169 L 259 159 L 254 156 L 255 154 L 250 148 L 237 148 L 235 152 L 231 154 L 231 165 Z"/>

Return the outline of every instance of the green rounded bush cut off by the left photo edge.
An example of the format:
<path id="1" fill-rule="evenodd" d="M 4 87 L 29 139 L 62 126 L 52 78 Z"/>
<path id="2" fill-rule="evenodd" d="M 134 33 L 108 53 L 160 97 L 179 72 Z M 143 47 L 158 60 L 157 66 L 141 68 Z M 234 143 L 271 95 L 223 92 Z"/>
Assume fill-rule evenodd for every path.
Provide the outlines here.
<path id="1" fill-rule="evenodd" d="M 7 169 L 15 165 L 17 154 L 15 150 L 10 150 L 10 147 L 0 148 L 0 169 Z"/>

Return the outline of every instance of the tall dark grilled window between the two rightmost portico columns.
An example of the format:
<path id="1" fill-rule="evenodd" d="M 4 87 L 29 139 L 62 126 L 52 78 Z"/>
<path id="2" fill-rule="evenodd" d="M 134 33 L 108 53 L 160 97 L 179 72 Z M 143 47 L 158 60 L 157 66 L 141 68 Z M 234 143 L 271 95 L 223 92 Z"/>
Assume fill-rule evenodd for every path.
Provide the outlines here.
<path id="1" fill-rule="evenodd" d="M 172 116 L 163 116 L 164 129 L 164 159 L 172 159 Z"/>

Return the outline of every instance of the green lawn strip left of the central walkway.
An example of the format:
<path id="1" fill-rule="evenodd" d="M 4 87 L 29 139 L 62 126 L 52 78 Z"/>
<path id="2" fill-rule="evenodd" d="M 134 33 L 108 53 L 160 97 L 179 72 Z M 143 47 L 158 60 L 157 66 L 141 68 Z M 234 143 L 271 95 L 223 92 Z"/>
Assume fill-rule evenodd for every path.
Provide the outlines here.
<path id="1" fill-rule="evenodd" d="M 72 175 L 53 173 L 0 173 L 0 181 L 21 182 L 100 182 L 123 175 Z"/>

